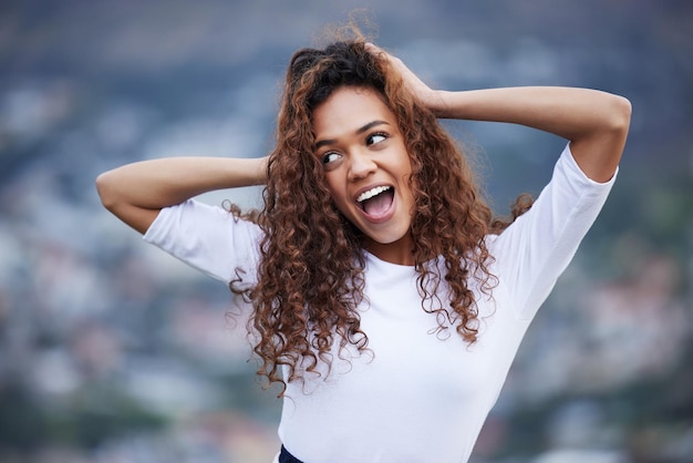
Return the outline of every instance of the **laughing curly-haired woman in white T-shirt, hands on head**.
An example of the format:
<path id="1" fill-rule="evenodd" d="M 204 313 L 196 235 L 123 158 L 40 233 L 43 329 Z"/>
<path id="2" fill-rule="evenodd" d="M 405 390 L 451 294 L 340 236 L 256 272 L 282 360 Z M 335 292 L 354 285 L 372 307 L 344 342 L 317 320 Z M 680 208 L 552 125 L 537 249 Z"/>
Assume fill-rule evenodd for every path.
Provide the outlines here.
<path id="1" fill-rule="evenodd" d="M 569 143 L 503 222 L 436 117 Z M 627 100 L 592 90 L 435 91 L 358 39 L 294 54 L 268 157 L 146 161 L 96 184 L 147 241 L 251 302 L 259 373 L 285 387 L 277 461 L 464 462 L 629 121 Z M 256 184 L 257 220 L 190 199 Z"/>

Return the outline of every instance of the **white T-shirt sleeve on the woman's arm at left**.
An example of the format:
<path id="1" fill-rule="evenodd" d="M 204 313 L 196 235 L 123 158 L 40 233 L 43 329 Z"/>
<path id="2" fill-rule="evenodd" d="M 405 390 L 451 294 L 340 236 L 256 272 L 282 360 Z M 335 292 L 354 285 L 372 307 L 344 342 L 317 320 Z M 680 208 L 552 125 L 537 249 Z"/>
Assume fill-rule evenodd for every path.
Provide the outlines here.
<path id="1" fill-rule="evenodd" d="M 213 278 L 248 288 L 257 282 L 260 237 L 257 225 L 188 199 L 163 208 L 143 239 Z"/>

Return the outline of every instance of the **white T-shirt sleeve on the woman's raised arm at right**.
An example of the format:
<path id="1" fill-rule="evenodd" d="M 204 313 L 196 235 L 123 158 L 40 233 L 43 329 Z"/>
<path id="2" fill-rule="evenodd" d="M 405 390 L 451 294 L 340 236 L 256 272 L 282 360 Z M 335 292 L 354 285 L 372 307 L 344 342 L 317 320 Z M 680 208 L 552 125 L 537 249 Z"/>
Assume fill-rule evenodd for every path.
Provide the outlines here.
<path id="1" fill-rule="evenodd" d="M 531 208 L 493 241 L 497 276 L 516 317 L 535 316 L 594 223 L 616 176 L 607 183 L 590 179 L 566 146 Z"/>

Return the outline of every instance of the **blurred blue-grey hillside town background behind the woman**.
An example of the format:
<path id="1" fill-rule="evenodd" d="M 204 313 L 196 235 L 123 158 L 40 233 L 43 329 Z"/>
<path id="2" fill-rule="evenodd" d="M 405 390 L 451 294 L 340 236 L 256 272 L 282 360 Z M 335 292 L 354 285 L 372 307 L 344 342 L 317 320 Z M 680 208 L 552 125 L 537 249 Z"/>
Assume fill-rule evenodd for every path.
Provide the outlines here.
<path id="1" fill-rule="evenodd" d="M 4 0 L 0 463 L 271 460 L 280 402 L 254 377 L 227 288 L 142 243 L 94 178 L 263 155 L 291 53 L 364 7 L 376 42 L 432 85 L 589 86 L 634 109 L 619 181 L 473 461 L 693 461 L 692 2 Z M 446 124 L 499 214 L 539 192 L 565 144 Z"/>

